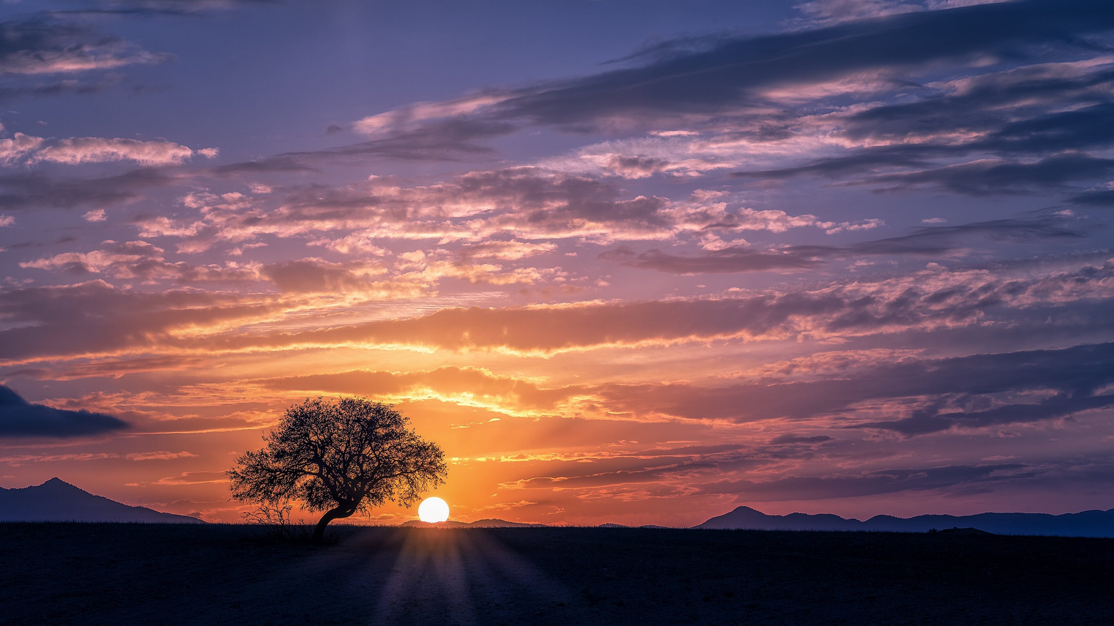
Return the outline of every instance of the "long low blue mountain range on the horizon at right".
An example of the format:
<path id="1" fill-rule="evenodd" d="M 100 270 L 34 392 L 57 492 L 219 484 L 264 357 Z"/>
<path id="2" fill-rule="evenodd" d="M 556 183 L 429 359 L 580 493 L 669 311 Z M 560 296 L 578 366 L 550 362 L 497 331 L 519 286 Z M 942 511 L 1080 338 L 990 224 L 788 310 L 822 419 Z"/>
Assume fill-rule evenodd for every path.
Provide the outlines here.
<path id="1" fill-rule="evenodd" d="M 693 528 L 747 528 L 755 530 L 886 530 L 927 532 L 930 529 L 975 528 L 995 535 L 1056 535 L 1061 537 L 1114 537 L 1114 509 L 1077 513 L 978 513 L 966 516 L 921 515 L 903 518 L 878 515 L 866 521 L 838 515 L 765 515 L 750 507 L 713 517 Z"/>

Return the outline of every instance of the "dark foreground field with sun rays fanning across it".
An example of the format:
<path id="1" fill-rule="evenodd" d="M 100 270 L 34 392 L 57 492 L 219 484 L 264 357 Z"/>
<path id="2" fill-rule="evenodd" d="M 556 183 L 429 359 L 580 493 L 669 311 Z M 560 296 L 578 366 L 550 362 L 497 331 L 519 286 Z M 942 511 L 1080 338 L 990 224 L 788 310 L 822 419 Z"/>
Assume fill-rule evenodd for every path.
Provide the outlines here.
<path id="1" fill-rule="evenodd" d="M 1114 539 L 0 525 L 2 624 L 1112 624 Z"/>

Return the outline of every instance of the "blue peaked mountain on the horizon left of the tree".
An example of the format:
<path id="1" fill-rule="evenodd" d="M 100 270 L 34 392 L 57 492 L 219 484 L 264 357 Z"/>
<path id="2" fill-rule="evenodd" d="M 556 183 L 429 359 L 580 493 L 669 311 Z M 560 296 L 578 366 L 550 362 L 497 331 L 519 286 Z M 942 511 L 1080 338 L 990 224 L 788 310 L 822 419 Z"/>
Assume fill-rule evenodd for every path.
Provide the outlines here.
<path id="1" fill-rule="evenodd" d="M 205 524 L 194 517 L 130 507 L 51 478 L 22 489 L 0 488 L 0 521 L 139 521 Z"/>

